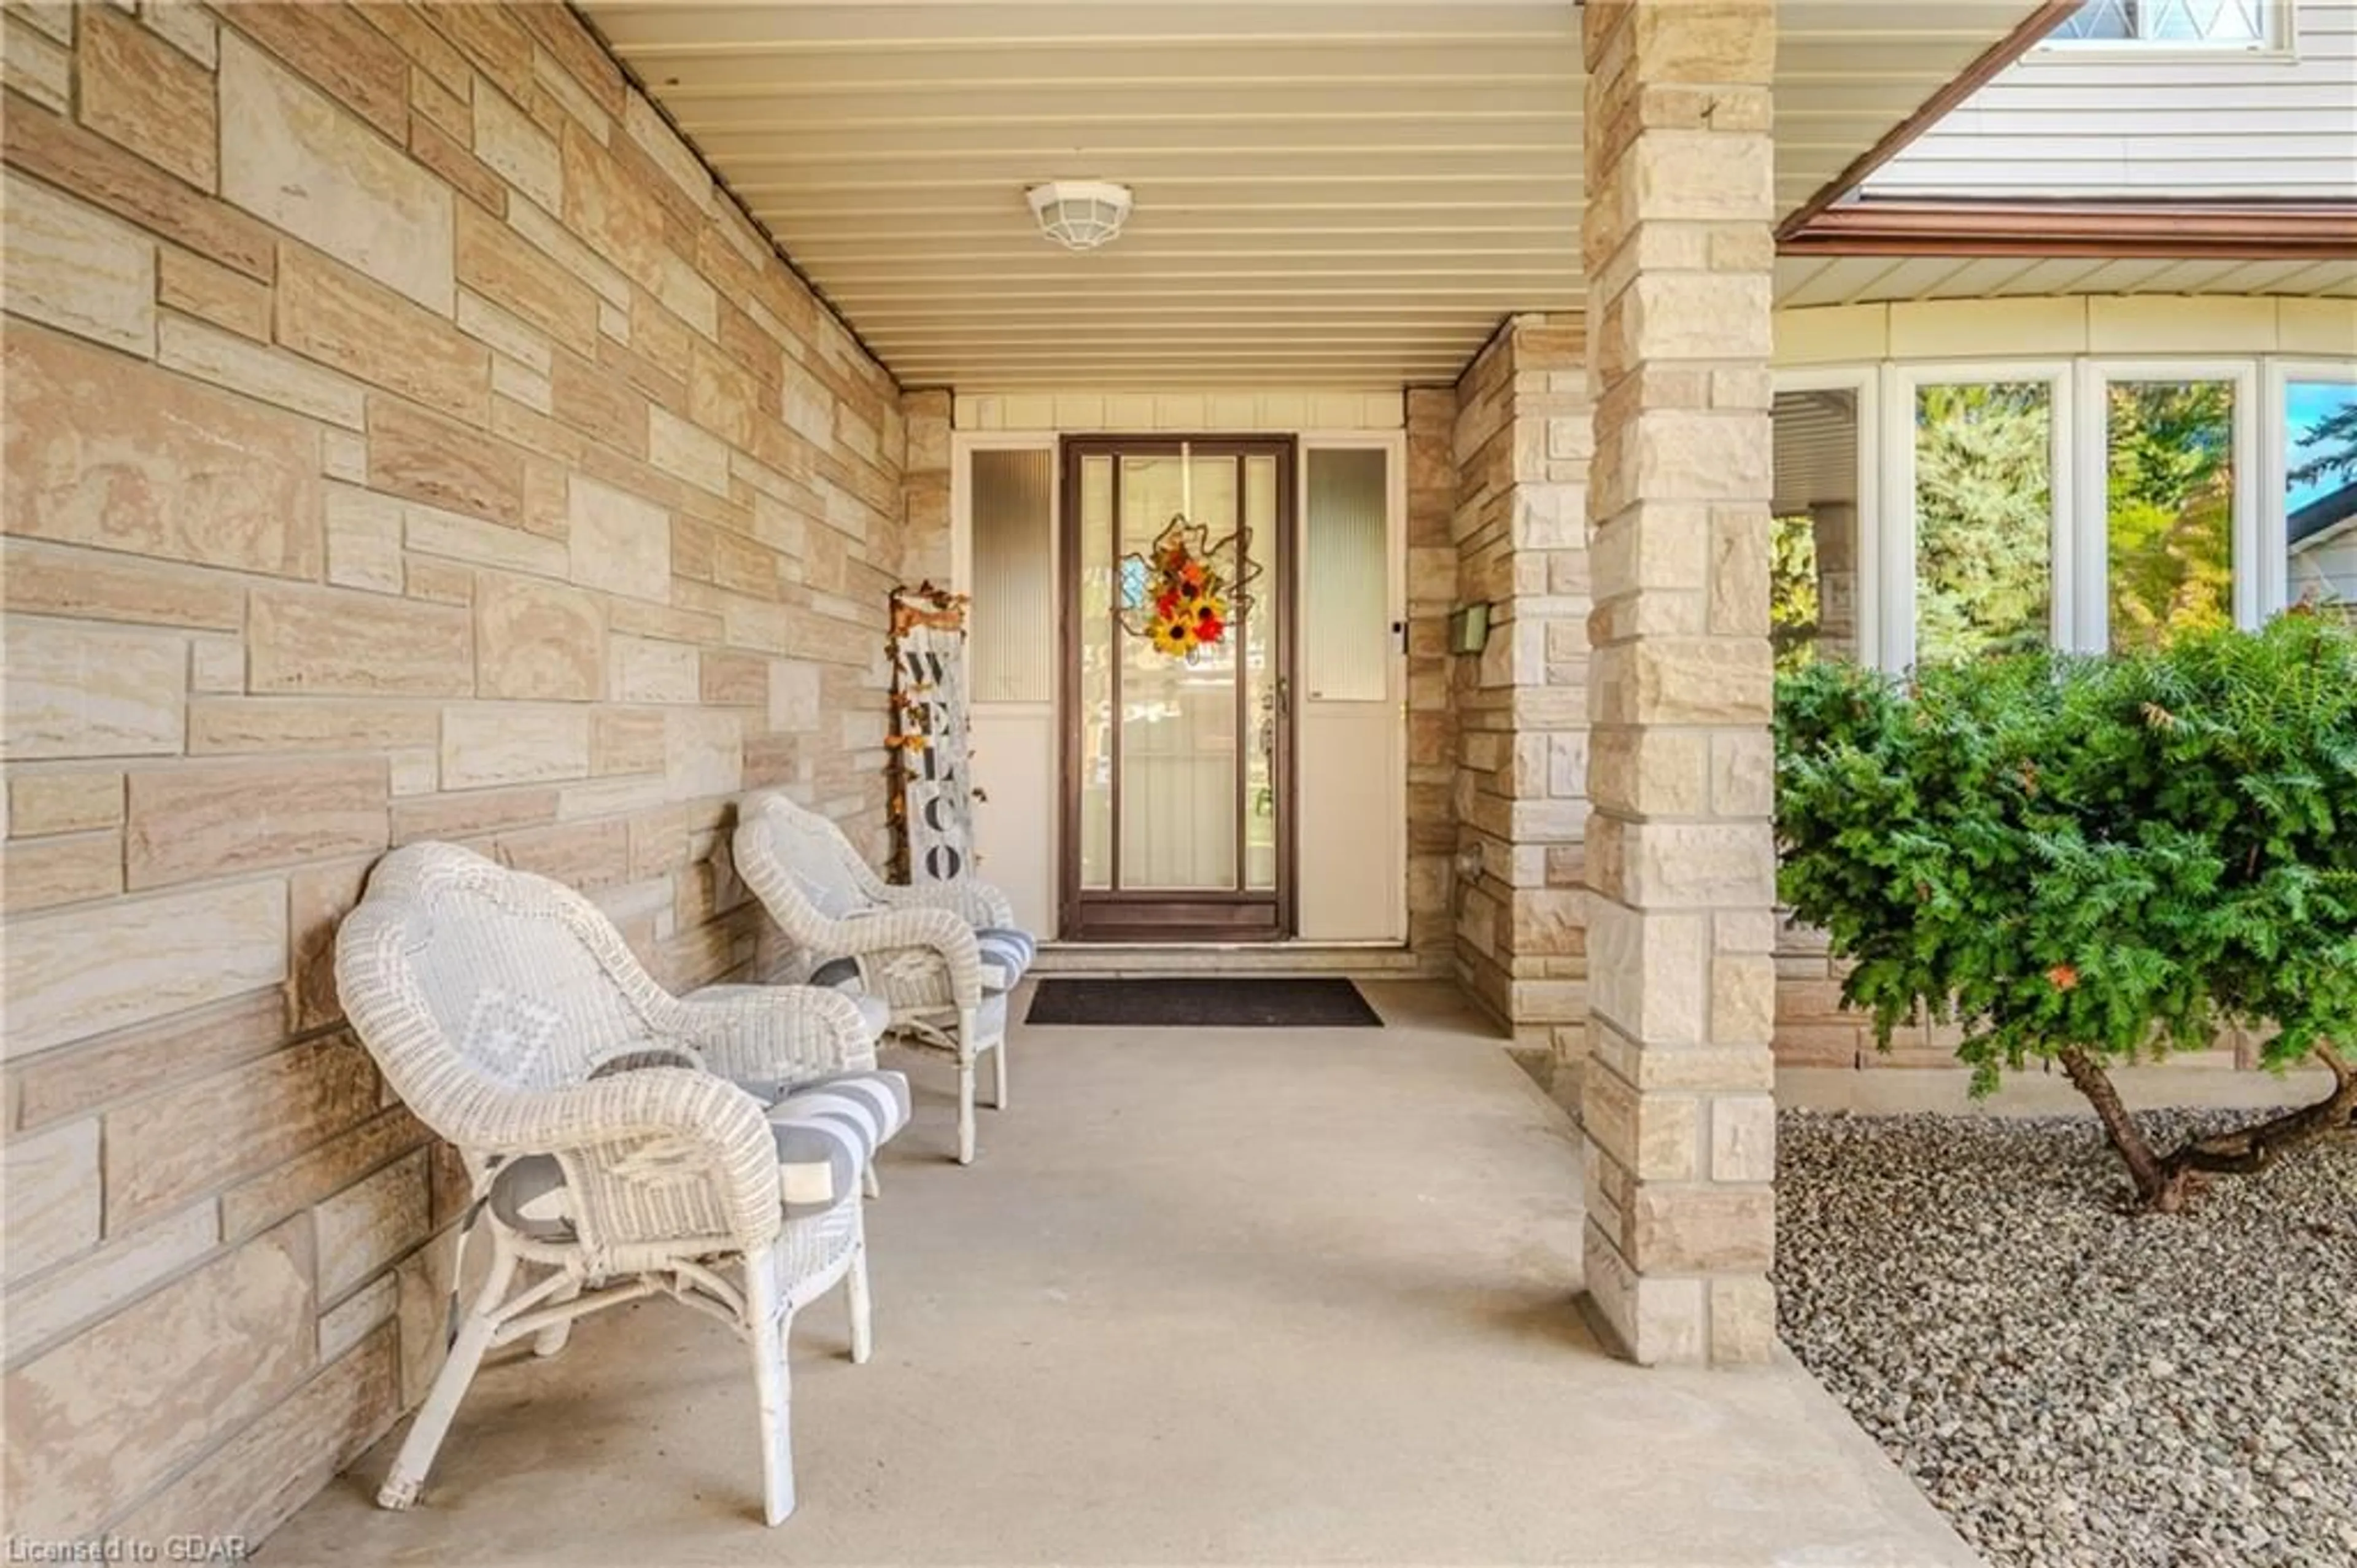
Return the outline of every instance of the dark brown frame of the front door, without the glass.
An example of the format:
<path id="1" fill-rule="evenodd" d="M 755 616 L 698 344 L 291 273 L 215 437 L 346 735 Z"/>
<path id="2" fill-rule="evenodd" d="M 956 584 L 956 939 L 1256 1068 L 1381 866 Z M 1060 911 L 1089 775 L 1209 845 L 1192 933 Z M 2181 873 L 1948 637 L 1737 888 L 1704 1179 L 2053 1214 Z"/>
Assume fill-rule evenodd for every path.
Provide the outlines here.
<path id="1" fill-rule="evenodd" d="M 1296 436 L 1268 434 L 1091 434 L 1058 439 L 1058 660 L 1056 660 L 1056 783 L 1058 783 L 1058 849 L 1056 849 L 1056 931 L 1063 941 L 1285 941 L 1296 924 L 1296 823 L 1294 823 L 1294 691 L 1299 651 L 1294 646 L 1294 531 L 1296 531 L 1296 481 L 1301 472 L 1301 441 Z M 1084 457 L 1113 457 L 1113 505 L 1120 516 L 1120 460 L 1129 455 L 1176 457 L 1190 450 L 1197 457 L 1275 457 L 1277 460 L 1277 519 L 1268 549 L 1268 582 L 1259 589 L 1254 613 L 1275 613 L 1277 660 L 1277 738 L 1275 738 L 1275 811 L 1277 811 L 1277 889 L 1275 894 L 1124 894 L 1089 891 L 1080 887 L 1080 564 L 1082 564 L 1082 507 L 1080 465 Z M 1242 514 L 1242 488 L 1237 488 L 1237 514 Z M 1115 542 L 1120 538 L 1115 535 Z M 1242 655 L 1240 655 L 1242 658 Z M 1113 700 L 1120 705 L 1122 672 L 1113 667 Z M 1242 877 L 1244 856 L 1244 759 L 1249 747 L 1252 712 L 1237 700 L 1237 835 L 1235 858 Z M 1120 740 L 1115 738 L 1115 745 Z M 1113 879 L 1120 882 L 1122 844 L 1122 769 L 1115 755 L 1113 769 Z M 1089 917 L 1096 905 L 1096 917 Z"/>

